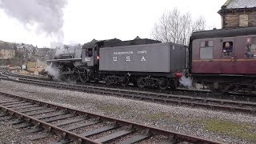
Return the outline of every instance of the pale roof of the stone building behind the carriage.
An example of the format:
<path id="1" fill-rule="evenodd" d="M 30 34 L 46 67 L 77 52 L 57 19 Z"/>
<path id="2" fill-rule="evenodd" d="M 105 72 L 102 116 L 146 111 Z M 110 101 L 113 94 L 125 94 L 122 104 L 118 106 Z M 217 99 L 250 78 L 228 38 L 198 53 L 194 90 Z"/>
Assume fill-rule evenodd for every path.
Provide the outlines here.
<path id="1" fill-rule="evenodd" d="M 256 7 L 256 0 L 227 0 L 222 9 L 240 9 Z"/>

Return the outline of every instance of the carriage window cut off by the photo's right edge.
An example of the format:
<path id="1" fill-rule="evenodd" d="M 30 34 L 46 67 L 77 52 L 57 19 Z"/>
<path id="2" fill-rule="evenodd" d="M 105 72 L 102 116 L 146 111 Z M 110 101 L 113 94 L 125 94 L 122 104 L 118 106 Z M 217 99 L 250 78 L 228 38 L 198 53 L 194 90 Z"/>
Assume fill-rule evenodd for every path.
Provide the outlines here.
<path id="1" fill-rule="evenodd" d="M 256 58 L 256 38 L 246 39 L 246 58 Z"/>

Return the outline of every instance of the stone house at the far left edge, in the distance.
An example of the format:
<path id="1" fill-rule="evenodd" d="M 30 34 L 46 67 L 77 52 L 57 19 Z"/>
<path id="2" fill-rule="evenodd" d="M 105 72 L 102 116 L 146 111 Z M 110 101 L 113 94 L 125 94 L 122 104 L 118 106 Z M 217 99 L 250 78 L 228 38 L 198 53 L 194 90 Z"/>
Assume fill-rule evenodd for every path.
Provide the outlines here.
<path id="1" fill-rule="evenodd" d="M 0 58 L 14 58 L 15 57 L 15 49 L 14 46 L 8 42 L 0 41 Z"/>

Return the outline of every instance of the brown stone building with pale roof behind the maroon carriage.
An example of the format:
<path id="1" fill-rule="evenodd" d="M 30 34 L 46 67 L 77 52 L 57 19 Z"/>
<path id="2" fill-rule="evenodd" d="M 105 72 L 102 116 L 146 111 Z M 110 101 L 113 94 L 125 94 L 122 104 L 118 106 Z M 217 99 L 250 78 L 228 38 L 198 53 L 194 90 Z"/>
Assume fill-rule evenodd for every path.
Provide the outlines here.
<path id="1" fill-rule="evenodd" d="M 227 0 L 218 14 L 222 28 L 256 26 L 256 0 Z"/>

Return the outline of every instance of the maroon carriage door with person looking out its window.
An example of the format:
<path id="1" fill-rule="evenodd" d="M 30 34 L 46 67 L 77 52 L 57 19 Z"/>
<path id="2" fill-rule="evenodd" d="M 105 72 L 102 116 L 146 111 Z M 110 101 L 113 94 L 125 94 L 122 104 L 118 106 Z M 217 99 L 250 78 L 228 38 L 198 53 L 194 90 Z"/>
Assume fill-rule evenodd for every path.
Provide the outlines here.
<path id="1" fill-rule="evenodd" d="M 221 74 L 237 74 L 235 38 L 222 38 L 220 50 L 219 69 Z"/>

